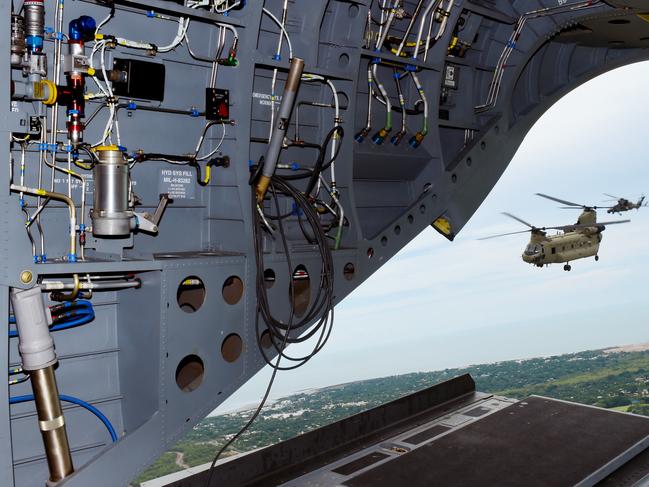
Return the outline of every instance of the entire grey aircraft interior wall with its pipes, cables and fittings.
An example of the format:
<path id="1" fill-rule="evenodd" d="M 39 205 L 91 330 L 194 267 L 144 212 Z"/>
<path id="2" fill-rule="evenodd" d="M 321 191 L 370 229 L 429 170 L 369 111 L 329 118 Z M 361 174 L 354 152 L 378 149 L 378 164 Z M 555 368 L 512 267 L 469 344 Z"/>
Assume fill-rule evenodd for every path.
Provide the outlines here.
<path id="1" fill-rule="evenodd" d="M 645 0 L 0 5 L 3 486 L 125 485 L 649 58 Z"/>

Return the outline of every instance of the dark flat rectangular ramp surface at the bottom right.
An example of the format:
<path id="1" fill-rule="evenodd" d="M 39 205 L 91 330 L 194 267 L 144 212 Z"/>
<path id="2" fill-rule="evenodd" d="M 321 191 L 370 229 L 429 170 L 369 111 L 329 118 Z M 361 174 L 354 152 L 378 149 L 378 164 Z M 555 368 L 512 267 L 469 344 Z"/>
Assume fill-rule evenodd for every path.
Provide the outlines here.
<path id="1" fill-rule="evenodd" d="M 594 485 L 642 452 L 648 438 L 649 418 L 531 397 L 343 485 Z"/>

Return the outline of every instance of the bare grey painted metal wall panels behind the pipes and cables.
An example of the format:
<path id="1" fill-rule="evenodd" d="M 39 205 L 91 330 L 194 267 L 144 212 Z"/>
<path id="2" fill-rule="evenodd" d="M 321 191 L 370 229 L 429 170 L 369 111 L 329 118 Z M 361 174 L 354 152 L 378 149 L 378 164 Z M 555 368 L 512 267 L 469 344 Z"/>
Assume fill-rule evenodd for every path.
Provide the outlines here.
<path id="1" fill-rule="evenodd" d="M 525 12 L 555 7 L 558 2 L 458 0 L 450 8 L 449 28 L 431 47 L 426 61 L 403 60 L 385 51 L 375 53 L 362 47 L 372 3 L 292 2 L 287 21 L 295 55 L 305 59 L 307 72 L 330 79 L 343 100 L 345 137 L 336 172 L 349 226 L 343 232 L 341 249 L 333 252 L 336 302 L 440 216 L 448 219 L 452 233 L 457 234 L 496 184 L 529 129 L 563 95 L 603 72 L 649 58 L 649 23 L 637 16 L 637 9 L 644 8 L 643 2 L 611 0 L 530 20 L 504 70 L 495 105 L 487 111 L 476 111 L 475 107 L 487 99 L 495 66 L 512 33 L 512 23 Z M 288 68 L 286 50 L 281 60 L 273 59 L 278 29 L 262 14 L 265 6 L 280 15 L 281 5 L 280 0 L 250 1 L 244 9 L 224 16 L 165 0 L 122 0 L 115 4 L 115 17 L 103 32 L 129 39 L 164 45 L 176 34 L 178 16 L 192 19 L 188 35 L 193 50 L 201 56 L 210 55 L 217 47 L 218 29 L 214 22 L 235 26 L 240 35 L 239 65 L 220 66 L 217 77 L 217 86 L 229 90 L 231 118 L 235 121 L 227 126 L 221 147 L 221 152 L 230 157 L 231 165 L 214 168 L 212 182 L 206 187 L 193 181 L 185 184 L 184 197 L 180 195 L 167 208 L 158 236 L 136 233 L 129 238 L 108 240 L 89 235 L 87 260 L 69 263 L 61 259 L 68 252 L 67 210 L 52 203 L 42 215 L 48 261 L 35 264 L 18 196 L 9 192 L 9 171 L 0 171 L 0 188 L 4 188 L 0 191 L 0 235 L 5 256 L 0 269 L 0 293 L 4 296 L 0 299 L 0 312 L 9 314 L 11 287 L 33 285 L 37 279 L 69 278 L 75 273 L 128 273 L 142 281 L 139 289 L 97 293 L 93 298 L 96 320 L 86 327 L 55 335 L 61 356 L 57 370 L 61 392 L 96 404 L 120 434 L 119 442 L 111 445 L 101 424 L 78 408 L 67 408 L 77 471 L 61 485 L 127 483 L 264 365 L 254 321 L 256 267 L 248 179 L 249 161 L 258 161 L 266 148 L 258 139 L 266 137 L 269 129 L 268 97 L 273 69 L 279 70 L 279 91 Z M 414 5 L 414 1 L 405 2 L 409 11 Z M 373 8 L 378 15 L 376 5 Z M 0 9 L 4 19 L 0 32 L 8 40 L 11 3 L 0 0 Z M 147 15 L 150 11 L 169 19 Z M 64 25 L 80 15 L 103 19 L 108 12 L 103 3 L 69 2 L 65 5 Z M 47 26 L 53 25 L 53 15 L 54 2 L 46 2 Z M 461 28 L 456 28 L 460 22 Z M 398 36 L 404 29 L 401 22 L 393 34 Z M 449 45 L 456 36 L 471 44 L 463 56 L 449 54 Z M 22 78 L 19 71 L 10 71 L 8 43 L 5 45 L 0 50 L 0 131 L 5 135 L 0 137 L 0 151 L 5 159 L 12 155 L 14 161 L 19 161 L 20 148 L 15 143 L 10 146 L 9 134 L 24 132 L 29 116 L 40 108 L 26 102 L 12 104 L 11 81 Z M 50 72 L 52 48 L 53 42 L 47 40 L 45 51 Z M 185 46 L 154 57 L 141 50 L 117 47 L 107 51 L 107 64 L 111 65 L 115 57 L 163 63 L 166 68 L 163 102 L 133 100 L 138 109 L 119 111 L 123 144 L 129 153 L 138 149 L 173 154 L 191 152 L 204 120 L 189 113 L 203 110 L 210 63 L 193 59 Z M 398 147 L 389 140 L 381 147 L 369 138 L 362 144 L 354 141 L 354 134 L 365 125 L 366 71 L 374 58 L 382 59 L 379 75 L 394 103 L 396 85 L 385 81 L 391 80 L 392 65 L 412 63 L 420 69 L 431 115 L 430 133 L 419 149 L 407 143 L 418 130 L 419 115 L 409 117 L 408 135 Z M 442 96 L 447 63 L 459 69 L 458 86 Z M 403 84 L 407 104 L 413 106 L 417 91 L 410 83 Z M 88 85 L 94 90 L 92 83 Z M 329 104 L 331 93 L 326 85 L 305 83 L 299 100 Z M 125 103 L 129 101 L 124 99 Z M 143 107 L 162 107 L 186 114 L 160 113 Z M 98 102 L 88 101 L 88 117 L 99 108 Z M 374 130 L 382 125 L 384 115 L 382 106 L 374 103 Z M 86 140 L 94 142 L 101 138 L 106 116 L 105 108 L 97 112 L 87 127 Z M 61 115 L 60 130 L 65 129 L 63 119 Z M 398 126 L 398 113 L 394 120 Z M 303 106 L 299 122 L 301 138 L 320 141 L 331 127 L 331 109 Z M 289 135 L 295 129 L 292 124 Z M 218 124 L 211 129 L 209 147 L 219 143 L 220 130 Z M 306 149 L 290 148 L 282 154 L 285 163 L 309 167 L 313 160 L 314 154 Z M 27 150 L 26 161 L 25 181 L 35 185 L 38 151 L 34 146 Z M 158 196 L 165 189 L 161 184 L 162 172 L 169 169 L 178 168 L 154 161 L 134 166 L 134 191 L 142 202 L 138 211 L 155 209 Z M 14 181 L 17 176 L 14 169 Z M 45 181 L 49 182 L 49 177 L 46 171 Z M 65 176 L 57 176 L 56 181 L 56 189 L 67 190 Z M 86 193 L 88 201 L 92 201 L 92 185 Z M 79 205 L 78 185 L 74 186 L 72 197 Z M 35 200 L 28 201 L 33 211 Z M 79 206 L 77 209 L 80 211 Z M 86 222 L 90 222 L 88 214 Z M 288 227 L 295 252 L 294 265 L 305 265 L 312 282 L 317 282 L 318 254 L 312 246 L 304 244 L 295 219 Z M 265 246 L 267 265 L 276 274 L 269 296 L 278 313 L 287 315 L 291 271 L 287 269 L 281 245 L 268 239 Z M 343 274 L 348 263 L 354 266 L 353 276 Z M 34 281 L 27 285 L 20 280 L 24 270 L 34 275 Z M 200 277 L 206 286 L 205 304 L 193 314 L 183 312 L 176 303 L 178 286 L 189 276 Z M 238 276 L 244 283 L 243 298 L 235 305 L 227 304 L 221 295 L 223 283 L 230 276 Z M 239 334 L 243 340 L 243 353 L 234 363 L 226 362 L 221 355 L 223 339 L 230 333 Z M 8 346 L 5 338 L 2 340 L 0 363 L 19 363 L 15 339 L 9 340 Z M 175 373 L 179 362 L 190 354 L 201 357 L 205 375 L 200 387 L 188 393 L 177 387 Z M 10 391 L 3 388 L 0 403 L 8 403 L 9 392 L 15 396 L 29 391 L 28 383 L 12 386 Z M 33 412 L 30 404 L 0 407 L 2 485 L 40 485 L 45 480 L 42 445 Z"/>

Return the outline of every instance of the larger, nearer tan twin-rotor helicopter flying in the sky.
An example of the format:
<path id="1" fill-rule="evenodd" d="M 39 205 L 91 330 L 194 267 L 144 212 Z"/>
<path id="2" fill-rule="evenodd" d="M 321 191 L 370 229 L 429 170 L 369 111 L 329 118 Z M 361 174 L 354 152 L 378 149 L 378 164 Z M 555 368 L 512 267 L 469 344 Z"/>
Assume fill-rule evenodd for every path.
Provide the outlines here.
<path id="1" fill-rule="evenodd" d="M 564 264 L 563 269 L 565 271 L 570 271 L 572 270 L 572 266 L 570 265 L 570 262 L 572 261 L 589 257 L 595 257 L 596 261 L 599 260 L 598 253 L 599 246 L 602 242 L 602 232 L 606 230 L 607 226 L 630 222 L 630 220 L 598 222 L 598 208 L 595 206 L 579 205 L 577 203 L 561 200 L 541 193 L 537 193 L 537 196 L 564 204 L 566 205 L 564 207 L 566 209 L 583 209 L 583 213 L 579 216 L 577 223 L 573 225 L 542 228 L 531 225 L 511 213 L 503 213 L 504 215 L 529 227 L 529 230 L 494 235 L 480 240 L 489 240 L 507 235 L 519 235 L 531 232 L 530 243 L 527 245 L 522 255 L 523 261 L 537 267 L 543 267 L 550 264 Z M 558 230 L 562 233 L 548 235 L 548 230 Z"/>

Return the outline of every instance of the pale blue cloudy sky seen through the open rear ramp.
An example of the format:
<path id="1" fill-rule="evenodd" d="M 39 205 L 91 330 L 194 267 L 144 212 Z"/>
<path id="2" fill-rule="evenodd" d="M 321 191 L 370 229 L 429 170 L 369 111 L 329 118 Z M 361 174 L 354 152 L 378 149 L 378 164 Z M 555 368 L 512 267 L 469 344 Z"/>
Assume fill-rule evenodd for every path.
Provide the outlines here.
<path id="1" fill-rule="evenodd" d="M 590 205 L 603 204 L 603 193 L 649 196 L 648 79 L 649 63 L 627 66 L 551 108 L 456 241 L 432 229 L 412 241 L 336 308 L 327 347 L 301 369 L 278 374 L 271 397 L 649 342 L 649 208 L 608 228 L 600 261 L 574 262 L 570 273 L 524 264 L 527 235 L 477 240 L 524 230 L 503 211 L 537 226 L 576 220 L 578 211 L 537 192 Z M 264 369 L 217 411 L 259 401 L 269 377 Z"/>

